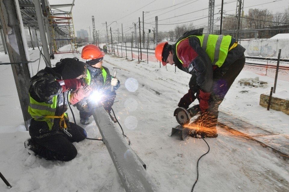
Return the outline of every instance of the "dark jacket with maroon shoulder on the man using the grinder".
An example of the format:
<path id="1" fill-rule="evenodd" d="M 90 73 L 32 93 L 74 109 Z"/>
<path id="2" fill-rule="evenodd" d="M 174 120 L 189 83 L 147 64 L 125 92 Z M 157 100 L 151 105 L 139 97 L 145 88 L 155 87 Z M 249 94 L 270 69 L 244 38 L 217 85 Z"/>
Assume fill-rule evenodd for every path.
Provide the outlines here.
<path id="1" fill-rule="evenodd" d="M 184 72 L 190 73 L 192 75 L 190 81 L 190 89 L 193 89 L 196 92 L 197 89 L 201 89 L 203 92 L 211 92 L 212 84 L 213 84 L 213 66 L 211 64 L 210 57 L 206 53 L 206 51 L 200 46 L 200 40 L 197 37 L 189 37 L 188 44 L 193 49 L 194 53 L 189 53 L 185 59 L 191 61 L 192 69 L 185 68 L 182 63 L 179 61 L 176 54 L 176 44 L 182 39 L 190 36 L 190 35 L 202 35 L 202 31 L 197 31 L 197 33 L 186 32 L 184 36 L 178 39 L 175 44 L 172 45 L 172 52 L 174 54 L 173 59 L 175 65 Z M 233 39 L 233 38 L 232 38 Z M 184 40 L 185 41 L 185 40 Z M 232 40 L 231 45 L 234 43 L 234 39 Z M 180 45 L 178 50 L 180 49 Z M 233 62 L 239 59 L 242 55 L 244 55 L 245 48 L 241 45 L 237 45 L 234 49 L 228 52 L 228 55 L 225 59 L 225 62 L 221 66 L 221 68 L 228 68 Z M 194 83 L 192 83 L 194 82 Z"/>

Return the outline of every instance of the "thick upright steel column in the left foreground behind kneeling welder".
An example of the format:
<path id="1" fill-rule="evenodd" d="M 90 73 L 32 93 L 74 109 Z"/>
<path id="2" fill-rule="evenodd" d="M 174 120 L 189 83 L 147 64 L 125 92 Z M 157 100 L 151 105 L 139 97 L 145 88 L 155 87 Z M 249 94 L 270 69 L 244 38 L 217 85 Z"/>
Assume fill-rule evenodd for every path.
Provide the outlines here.
<path id="1" fill-rule="evenodd" d="M 11 68 L 19 96 L 25 127 L 28 130 L 31 119 L 27 110 L 30 102 L 28 95 L 30 73 L 27 63 L 29 53 L 18 0 L 0 1 L 0 20 L 1 23 L 3 23 L 3 33 L 5 42 L 7 43 L 10 62 L 19 62 L 19 64 L 11 64 Z"/>

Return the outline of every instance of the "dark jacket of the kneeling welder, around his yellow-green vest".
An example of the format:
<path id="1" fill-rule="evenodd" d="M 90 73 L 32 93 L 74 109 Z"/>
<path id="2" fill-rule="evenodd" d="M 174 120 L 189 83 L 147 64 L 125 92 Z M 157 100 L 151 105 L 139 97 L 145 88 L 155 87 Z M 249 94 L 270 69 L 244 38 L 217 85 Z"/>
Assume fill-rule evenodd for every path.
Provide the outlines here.
<path id="1" fill-rule="evenodd" d="M 57 95 L 56 116 L 62 115 L 68 108 L 67 92 L 62 93 L 61 85 L 55 81 L 61 79 L 61 75 L 56 73 L 53 68 L 45 67 L 30 79 L 29 94 L 37 102 L 51 104 L 52 98 Z M 52 130 L 49 130 L 45 121 L 35 121 L 32 119 L 29 127 L 31 137 L 42 138 L 55 134 L 61 134 L 59 119 L 54 119 Z"/>

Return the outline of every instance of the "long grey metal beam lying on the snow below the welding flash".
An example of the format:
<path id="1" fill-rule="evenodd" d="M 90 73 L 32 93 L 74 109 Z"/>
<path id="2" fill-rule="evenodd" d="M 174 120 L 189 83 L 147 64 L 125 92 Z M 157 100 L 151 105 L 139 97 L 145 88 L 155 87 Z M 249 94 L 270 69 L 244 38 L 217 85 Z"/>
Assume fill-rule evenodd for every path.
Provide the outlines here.
<path id="1" fill-rule="evenodd" d="M 110 122 L 104 108 L 102 106 L 95 108 L 92 115 L 125 190 L 156 191 L 156 186 L 149 178 L 141 160 Z"/>

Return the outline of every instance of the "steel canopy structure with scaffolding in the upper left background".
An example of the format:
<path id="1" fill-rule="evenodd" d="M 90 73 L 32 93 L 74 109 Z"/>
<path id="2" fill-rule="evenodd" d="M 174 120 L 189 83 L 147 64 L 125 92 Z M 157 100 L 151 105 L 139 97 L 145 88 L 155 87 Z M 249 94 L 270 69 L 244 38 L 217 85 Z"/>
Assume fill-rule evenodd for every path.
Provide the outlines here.
<path id="1" fill-rule="evenodd" d="M 36 4 L 34 1 L 18 0 L 23 26 L 29 30 L 39 30 L 39 21 L 37 19 Z M 47 34 L 48 46 L 50 48 L 50 58 L 54 58 L 53 55 L 57 53 L 77 53 L 78 51 L 76 47 L 75 32 L 71 14 L 74 6 L 74 0 L 72 4 L 61 5 L 50 5 L 48 0 L 36 1 L 41 2 L 42 17 L 45 25 L 45 32 Z M 71 8 L 70 11 L 62 11 L 59 9 L 62 7 Z M 32 37 L 31 41 L 33 41 Z M 66 44 L 71 45 L 70 50 L 60 51 L 59 48 Z"/>

